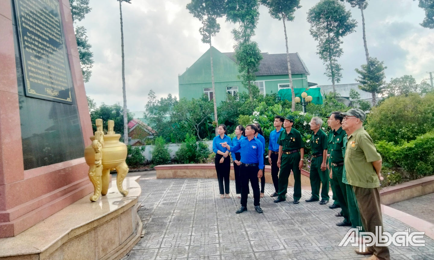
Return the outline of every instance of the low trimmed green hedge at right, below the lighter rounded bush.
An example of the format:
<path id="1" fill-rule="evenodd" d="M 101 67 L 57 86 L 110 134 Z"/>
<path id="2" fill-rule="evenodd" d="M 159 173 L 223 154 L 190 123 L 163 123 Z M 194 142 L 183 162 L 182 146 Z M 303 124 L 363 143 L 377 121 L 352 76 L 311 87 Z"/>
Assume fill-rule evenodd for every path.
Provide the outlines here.
<path id="1" fill-rule="evenodd" d="M 412 175 L 412 179 L 434 173 L 434 132 L 398 146 L 386 141 L 380 141 L 375 146 L 383 161 L 402 167 Z"/>

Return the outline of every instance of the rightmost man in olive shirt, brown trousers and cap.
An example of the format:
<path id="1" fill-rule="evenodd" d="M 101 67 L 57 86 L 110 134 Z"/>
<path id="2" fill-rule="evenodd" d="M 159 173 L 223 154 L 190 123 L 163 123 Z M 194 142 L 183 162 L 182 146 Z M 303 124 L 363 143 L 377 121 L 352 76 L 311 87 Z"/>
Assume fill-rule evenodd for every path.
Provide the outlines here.
<path id="1" fill-rule="evenodd" d="M 352 185 L 358 202 L 360 216 L 365 231 L 375 234 L 376 227 L 383 226 L 380 202 L 381 156 L 377 153 L 371 136 L 365 131 L 365 113 L 352 108 L 341 113 L 343 125 L 348 135 L 345 148 L 346 178 Z M 379 242 L 378 235 L 374 238 Z M 388 247 L 374 245 L 365 252 L 355 249 L 358 254 L 374 254 L 367 260 L 390 260 Z"/>

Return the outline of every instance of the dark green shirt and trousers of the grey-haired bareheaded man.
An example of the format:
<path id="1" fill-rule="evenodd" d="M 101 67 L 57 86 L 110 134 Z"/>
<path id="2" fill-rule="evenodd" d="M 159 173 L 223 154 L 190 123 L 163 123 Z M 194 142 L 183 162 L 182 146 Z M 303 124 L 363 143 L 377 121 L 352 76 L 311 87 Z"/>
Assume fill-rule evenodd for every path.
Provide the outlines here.
<path id="1" fill-rule="evenodd" d="M 327 135 L 321 129 L 312 135 L 312 159 L 310 165 L 310 187 L 312 188 L 312 198 L 319 200 L 319 188 L 322 183 L 321 199 L 329 200 L 329 170 L 321 170 L 324 150 L 327 149 Z"/>

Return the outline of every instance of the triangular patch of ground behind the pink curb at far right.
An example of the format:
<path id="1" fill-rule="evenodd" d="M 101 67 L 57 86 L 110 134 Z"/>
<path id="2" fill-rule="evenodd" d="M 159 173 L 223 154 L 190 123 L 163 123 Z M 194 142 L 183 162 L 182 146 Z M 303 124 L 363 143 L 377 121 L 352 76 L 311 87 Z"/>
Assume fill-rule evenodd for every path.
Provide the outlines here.
<path id="1" fill-rule="evenodd" d="M 410 198 L 388 206 L 434 224 L 434 193 Z"/>

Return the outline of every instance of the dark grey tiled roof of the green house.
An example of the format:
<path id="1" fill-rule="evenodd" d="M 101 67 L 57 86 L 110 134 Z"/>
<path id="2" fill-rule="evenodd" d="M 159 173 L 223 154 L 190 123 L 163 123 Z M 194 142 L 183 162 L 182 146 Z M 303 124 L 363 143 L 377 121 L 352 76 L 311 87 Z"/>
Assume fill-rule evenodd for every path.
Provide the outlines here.
<path id="1" fill-rule="evenodd" d="M 236 62 L 235 52 L 223 52 L 223 54 Z M 261 54 L 263 59 L 260 62 L 259 71 L 255 73 L 256 76 L 288 75 L 286 53 L 268 54 L 268 52 L 262 52 Z M 289 64 L 291 65 L 291 74 L 310 75 L 298 52 L 289 53 Z"/>

